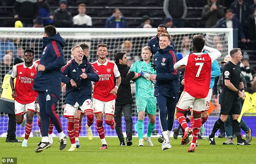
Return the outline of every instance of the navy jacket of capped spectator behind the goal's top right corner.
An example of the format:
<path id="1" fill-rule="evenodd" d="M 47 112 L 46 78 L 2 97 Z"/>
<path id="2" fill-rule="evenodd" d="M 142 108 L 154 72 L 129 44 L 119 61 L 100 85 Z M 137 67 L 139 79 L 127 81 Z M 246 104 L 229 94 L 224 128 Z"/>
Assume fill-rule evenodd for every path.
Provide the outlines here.
<path id="1" fill-rule="evenodd" d="M 225 17 L 219 19 L 216 23 L 216 25 L 217 25 L 216 28 L 227 28 L 225 20 L 226 20 Z M 243 27 L 242 27 L 241 23 L 239 22 L 239 20 L 237 18 L 233 18 L 232 22 L 233 22 L 233 29 L 238 29 L 239 38 L 240 39 L 246 38 L 246 36 L 244 35 L 244 32 L 243 32 Z"/>

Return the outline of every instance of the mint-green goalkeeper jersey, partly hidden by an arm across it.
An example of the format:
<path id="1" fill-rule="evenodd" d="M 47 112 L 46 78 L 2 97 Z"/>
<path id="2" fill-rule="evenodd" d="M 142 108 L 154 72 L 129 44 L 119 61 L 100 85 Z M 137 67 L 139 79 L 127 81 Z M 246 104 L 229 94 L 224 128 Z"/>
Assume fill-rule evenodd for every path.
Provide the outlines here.
<path id="1" fill-rule="evenodd" d="M 132 64 L 129 71 L 136 73 L 144 72 L 151 74 L 156 74 L 156 71 L 151 67 L 151 62 L 149 64 L 144 61 L 136 61 Z M 154 84 L 151 80 L 146 80 L 143 77 L 138 77 L 135 79 L 136 84 L 136 97 L 152 98 L 154 97 Z"/>

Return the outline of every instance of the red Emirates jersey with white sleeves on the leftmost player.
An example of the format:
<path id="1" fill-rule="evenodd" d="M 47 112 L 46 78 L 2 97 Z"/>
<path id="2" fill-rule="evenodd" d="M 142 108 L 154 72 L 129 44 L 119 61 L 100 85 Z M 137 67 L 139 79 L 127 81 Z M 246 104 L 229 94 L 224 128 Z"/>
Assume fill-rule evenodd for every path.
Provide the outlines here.
<path id="1" fill-rule="evenodd" d="M 15 65 L 11 75 L 13 78 L 16 77 L 15 92 L 17 97 L 14 100 L 21 104 L 29 104 L 36 101 L 38 92 L 32 89 L 36 73 L 34 64 L 30 67 L 26 67 L 24 62 Z"/>

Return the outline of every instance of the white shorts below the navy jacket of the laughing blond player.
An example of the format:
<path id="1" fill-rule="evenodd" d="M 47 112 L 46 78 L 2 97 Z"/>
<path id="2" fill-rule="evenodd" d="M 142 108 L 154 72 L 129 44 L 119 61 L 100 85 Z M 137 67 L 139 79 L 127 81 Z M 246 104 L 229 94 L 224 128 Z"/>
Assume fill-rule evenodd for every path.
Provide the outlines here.
<path id="1" fill-rule="evenodd" d="M 78 112 L 78 109 L 81 110 L 81 113 L 86 113 L 88 110 L 93 110 L 92 100 L 87 99 L 84 101 L 82 106 L 79 106 L 78 102 L 74 106 L 70 104 L 65 104 L 63 116 L 64 117 L 74 117 Z"/>

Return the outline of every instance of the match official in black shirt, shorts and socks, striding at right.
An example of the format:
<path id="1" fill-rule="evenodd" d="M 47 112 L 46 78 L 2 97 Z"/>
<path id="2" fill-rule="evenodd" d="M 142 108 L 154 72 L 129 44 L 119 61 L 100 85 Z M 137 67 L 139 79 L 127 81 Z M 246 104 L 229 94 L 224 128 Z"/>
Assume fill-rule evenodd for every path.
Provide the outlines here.
<path id="1" fill-rule="evenodd" d="M 214 140 L 214 135 L 220 126 L 227 121 L 227 118 L 230 114 L 233 117 L 233 129 L 235 135 L 237 136 L 237 145 L 252 145 L 247 143 L 241 137 L 241 129 L 237 118 L 240 116 L 240 98 L 244 99 L 244 89 L 241 76 L 241 70 L 237 65 L 241 62 L 243 56 L 240 48 L 233 48 L 230 51 L 231 61 L 227 62 L 223 68 L 223 87 L 221 93 L 221 109 L 220 109 L 220 118 L 215 122 L 212 129 L 211 135 L 209 135 L 208 140 L 210 145 L 216 145 Z M 239 91 L 239 85 L 242 88 Z M 239 98 L 240 97 L 240 98 Z"/>

